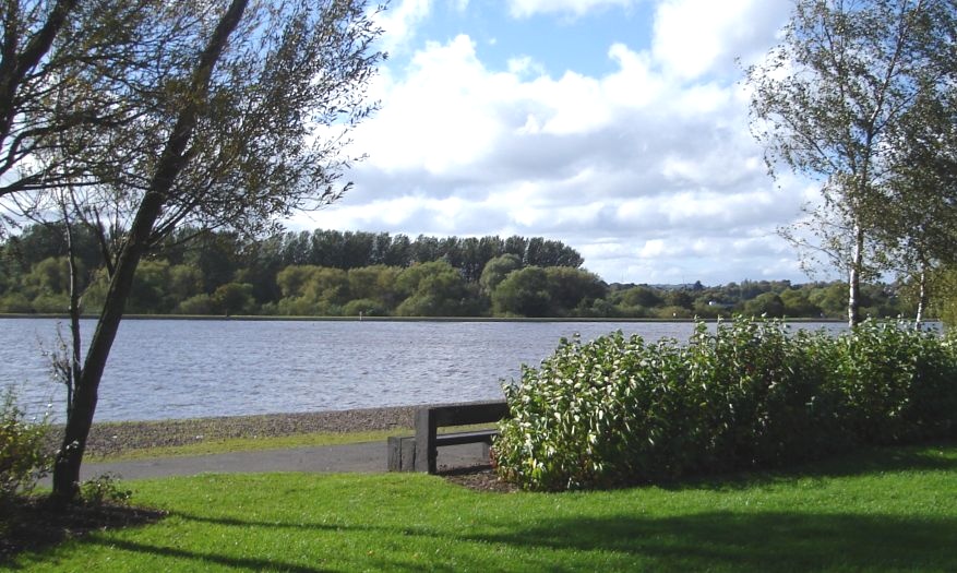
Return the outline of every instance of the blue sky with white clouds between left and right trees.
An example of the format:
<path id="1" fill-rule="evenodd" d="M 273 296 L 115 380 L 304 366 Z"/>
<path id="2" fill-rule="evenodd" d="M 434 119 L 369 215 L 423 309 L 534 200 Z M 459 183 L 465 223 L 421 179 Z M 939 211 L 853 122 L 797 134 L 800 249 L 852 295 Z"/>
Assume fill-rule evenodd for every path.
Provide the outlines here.
<path id="1" fill-rule="evenodd" d="M 806 282 L 742 65 L 789 0 L 393 0 L 355 189 L 291 228 L 523 235 L 608 282 Z M 737 63 L 739 60 L 741 63 Z"/>

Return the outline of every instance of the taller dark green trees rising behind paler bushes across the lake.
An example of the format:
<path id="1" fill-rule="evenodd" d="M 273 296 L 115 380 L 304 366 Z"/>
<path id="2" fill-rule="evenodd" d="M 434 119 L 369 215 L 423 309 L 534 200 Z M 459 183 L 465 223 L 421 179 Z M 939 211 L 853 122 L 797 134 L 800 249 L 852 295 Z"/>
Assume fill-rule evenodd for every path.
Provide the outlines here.
<path id="1" fill-rule="evenodd" d="M 0 240 L 0 268 L 7 283 L 17 274 L 51 256 L 72 252 L 87 268 L 104 265 L 97 237 L 87 228 L 72 231 L 72 248 L 67 243 L 62 223 L 32 225 L 22 232 Z M 502 254 L 518 256 L 526 266 L 581 266 L 582 255 L 561 241 L 541 237 L 429 237 L 410 239 L 388 232 L 314 231 L 278 232 L 256 239 L 235 231 L 203 231 L 183 228 L 166 238 L 155 250 L 171 264 L 193 263 L 211 275 L 212 280 L 231 276 L 240 268 L 263 267 L 270 273 L 289 265 L 315 265 L 356 268 L 384 264 L 410 266 L 443 259 L 459 268 L 468 282 L 476 282 L 486 263 Z M 0 277 L 0 280 L 4 280 Z M 222 280 L 220 280 L 222 283 Z M 2 286 L 3 283 L 0 283 Z M 207 285 L 208 287 L 210 285 Z"/>

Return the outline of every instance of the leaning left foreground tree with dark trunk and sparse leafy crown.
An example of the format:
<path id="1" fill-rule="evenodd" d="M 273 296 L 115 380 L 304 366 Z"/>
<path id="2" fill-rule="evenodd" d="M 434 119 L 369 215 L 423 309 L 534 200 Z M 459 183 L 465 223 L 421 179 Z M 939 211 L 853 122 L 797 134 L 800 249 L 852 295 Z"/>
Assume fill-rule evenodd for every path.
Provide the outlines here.
<path id="1" fill-rule="evenodd" d="M 63 140 L 121 160 L 95 164 L 79 144 L 38 156 L 101 167 L 58 189 L 52 204 L 69 219 L 68 235 L 77 223 L 105 228 L 110 213 L 118 246 L 82 367 L 74 331 L 72 399 L 53 469 L 59 501 L 76 493 L 99 381 L 140 261 L 184 224 L 256 232 L 291 210 L 337 199 L 348 189 L 339 183 L 349 165 L 344 134 L 371 111 L 364 86 L 382 58 L 371 48 L 378 29 L 362 0 L 136 8 L 135 28 L 111 25 L 135 32 L 137 50 L 111 60 L 109 69 L 81 62 L 64 71 L 77 82 L 88 79 L 83 85 L 100 74 L 116 80 L 112 95 L 122 96 L 130 120 L 70 131 Z M 88 16 L 71 22 L 71 29 L 103 24 L 97 13 Z M 57 105 L 69 115 L 74 99 Z M 68 148 L 76 153 L 59 153 Z"/>

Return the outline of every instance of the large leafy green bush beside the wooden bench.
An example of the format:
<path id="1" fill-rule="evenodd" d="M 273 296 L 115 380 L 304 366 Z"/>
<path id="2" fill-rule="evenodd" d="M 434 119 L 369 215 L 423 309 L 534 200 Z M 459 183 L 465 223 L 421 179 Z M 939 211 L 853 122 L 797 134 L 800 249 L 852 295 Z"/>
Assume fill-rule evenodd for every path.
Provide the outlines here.
<path id="1" fill-rule="evenodd" d="M 529 489 L 767 467 L 957 437 L 957 344 L 902 324 L 790 334 L 737 319 L 691 339 L 562 341 L 505 385 L 499 474 Z"/>

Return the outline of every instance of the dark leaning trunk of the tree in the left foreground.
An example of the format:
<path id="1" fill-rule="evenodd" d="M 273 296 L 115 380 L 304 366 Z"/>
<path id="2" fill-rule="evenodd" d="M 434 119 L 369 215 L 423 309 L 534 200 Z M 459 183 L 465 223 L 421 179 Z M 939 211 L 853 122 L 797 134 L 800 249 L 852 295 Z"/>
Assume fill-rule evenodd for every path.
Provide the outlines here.
<path id="1" fill-rule="evenodd" d="M 103 378 L 109 351 L 123 318 L 123 310 L 130 296 L 136 266 L 149 248 L 153 226 L 163 211 L 167 192 L 189 162 L 186 154 L 187 146 L 196 127 L 201 103 L 205 102 L 208 95 L 213 68 L 219 60 L 229 35 L 239 24 L 247 3 L 248 0 L 232 1 L 200 56 L 190 86 L 192 97 L 184 99 L 184 107 L 180 110 L 176 126 L 170 132 L 169 140 L 166 142 L 156 171 L 149 182 L 148 191 L 136 210 L 133 225 L 120 250 L 113 275 L 110 277 L 103 312 L 89 343 L 89 350 L 86 354 L 80 380 L 76 381 L 73 411 L 67 421 L 63 443 L 57 452 L 53 465 L 52 499 L 58 503 L 69 503 L 75 498 L 79 490 L 80 465 L 83 462 L 86 439 L 89 435 L 89 428 L 96 411 L 99 381 Z"/>

